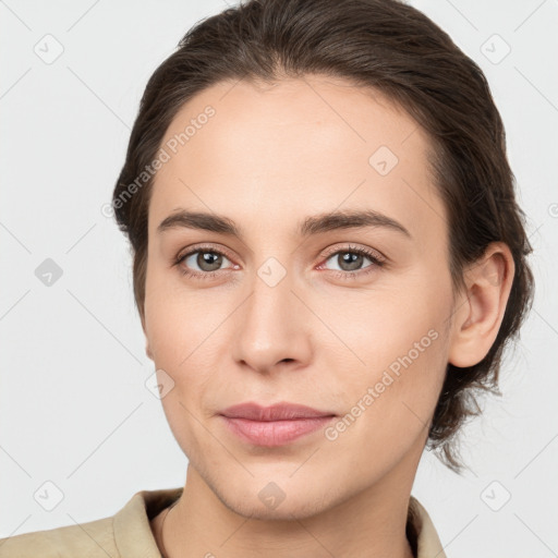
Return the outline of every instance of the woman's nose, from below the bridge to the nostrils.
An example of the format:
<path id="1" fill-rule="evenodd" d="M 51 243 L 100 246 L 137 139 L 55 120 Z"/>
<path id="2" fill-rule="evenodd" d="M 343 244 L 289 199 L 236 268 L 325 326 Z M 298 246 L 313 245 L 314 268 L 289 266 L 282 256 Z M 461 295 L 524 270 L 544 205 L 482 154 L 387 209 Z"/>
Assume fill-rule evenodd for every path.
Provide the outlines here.
<path id="1" fill-rule="evenodd" d="M 311 361 L 315 324 L 293 283 L 289 272 L 277 284 L 265 268 L 255 274 L 252 292 L 235 313 L 233 357 L 240 366 L 270 374 Z"/>

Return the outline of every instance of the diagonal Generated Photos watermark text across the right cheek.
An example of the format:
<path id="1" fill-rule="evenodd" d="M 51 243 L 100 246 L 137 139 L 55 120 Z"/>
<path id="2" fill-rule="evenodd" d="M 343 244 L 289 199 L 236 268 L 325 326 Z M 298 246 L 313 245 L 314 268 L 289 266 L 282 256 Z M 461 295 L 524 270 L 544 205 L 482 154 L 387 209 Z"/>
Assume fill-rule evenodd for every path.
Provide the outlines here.
<path id="1" fill-rule="evenodd" d="M 326 438 L 329 441 L 337 440 L 339 435 L 345 432 L 349 426 L 354 424 L 356 418 L 361 416 L 362 413 L 366 411 L 366 409 L 371 407 L 372 403 L 374 403 L 374 401 L 376 401 L 376 399 L 378 399 L 381 393 L 384 393 L 384 391 L 386 391 L 386 388 L 391 386 L 391 384 L 393 384 L 393 381 L 399 378 L 402 372 L 401 367 L 404 369 L 409 368 L 409 366 L 411 366 L 411 364 L 413 364 L 413 362 L 416 361 L 416 359 L 418 359 L 418 356 L 421 356 L 421 354 L 424 353 L 424 351 L 428 349 L 433 341 L 436 341 L 439 335 L 436 329 L 429 329 L 427 335 L 423 336 L 420 341 L 415 341 L 413 343 L 413 348 L 410 349 L 407 354 L 403 356 L 398 356 L 384 371 L 381 379 L 378 380 L 374 387 L 368 387 L 366 393 L 361 399 L 359 399 L 356 404 L 351 408 L 351 411 L 347 413 L 342 418 L 337 421 L 333 425 L 328 426 L 324 430 Z"/>

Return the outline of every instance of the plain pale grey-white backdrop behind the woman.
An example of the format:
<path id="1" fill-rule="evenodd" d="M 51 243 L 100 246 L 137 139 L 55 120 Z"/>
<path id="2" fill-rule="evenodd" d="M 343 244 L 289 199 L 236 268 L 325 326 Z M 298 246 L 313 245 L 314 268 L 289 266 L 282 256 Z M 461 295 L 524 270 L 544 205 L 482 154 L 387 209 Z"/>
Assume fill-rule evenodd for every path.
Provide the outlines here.
<path id="1" fill-rule="evenodd" d="M 484 398 L 463 432 L 470 471 L 425 451 L 413 494 L 449 557 L 556 556 L 558 1 L 410 3 L 488 78 L 536 278 L 502 397 Z M 141 489 L 184 483 L 186 458 L 145 386 L 128 243 L 102 208 L 149 75 L 226 7 L 0 1 L 0 536 L 112 515 Z"/>

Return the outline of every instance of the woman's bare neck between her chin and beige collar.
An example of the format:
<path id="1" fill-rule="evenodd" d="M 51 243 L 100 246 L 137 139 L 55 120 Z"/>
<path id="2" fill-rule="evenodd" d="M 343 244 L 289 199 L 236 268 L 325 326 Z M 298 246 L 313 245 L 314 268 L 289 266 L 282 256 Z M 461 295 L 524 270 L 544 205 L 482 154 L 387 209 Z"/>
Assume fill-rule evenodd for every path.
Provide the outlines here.
<path id="1" fill-rule="evenodd" d="M 409 483 L 397 472 L 319 513 L 259 520 L 234 511 L 189 465 L 182 496 L 168 518 L 163 510 L 151 523 L 161 548 L 165 519 L 166 558 L 213 557 L 223 551 L 229 558 L 256 558 L 264 551 L 266 558 L 414 558 L 405 535 L 414 476 Z"/>

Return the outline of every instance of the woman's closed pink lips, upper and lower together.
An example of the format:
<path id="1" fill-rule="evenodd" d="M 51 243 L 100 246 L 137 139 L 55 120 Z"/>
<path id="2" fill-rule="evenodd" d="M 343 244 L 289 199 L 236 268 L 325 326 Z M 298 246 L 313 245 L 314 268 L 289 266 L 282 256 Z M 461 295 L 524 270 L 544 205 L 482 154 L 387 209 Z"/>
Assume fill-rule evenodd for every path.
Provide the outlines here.
<path id="1" fill-rule="evenodd" d="M 263 407 L 247 402 L 220 413 L 227 427 L 243 441 L 256 446 L 284 446 L 325 427 L 336 414 L 306 405 L 276 403 Z"/>

